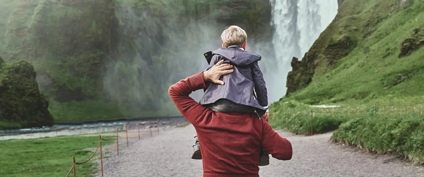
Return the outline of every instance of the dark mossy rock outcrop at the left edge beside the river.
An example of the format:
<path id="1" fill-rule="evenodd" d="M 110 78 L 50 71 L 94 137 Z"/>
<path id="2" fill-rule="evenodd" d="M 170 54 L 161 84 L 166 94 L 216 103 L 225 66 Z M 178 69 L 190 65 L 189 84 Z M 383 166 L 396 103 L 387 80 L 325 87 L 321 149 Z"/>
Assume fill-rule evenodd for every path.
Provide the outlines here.
<path id="1" fill-rule="evenodd" d="M 0 68 L 0 122 L 30 128 L 53 125 L 49 104 L 40 94 L 33 66 L 19 61 Z"/>

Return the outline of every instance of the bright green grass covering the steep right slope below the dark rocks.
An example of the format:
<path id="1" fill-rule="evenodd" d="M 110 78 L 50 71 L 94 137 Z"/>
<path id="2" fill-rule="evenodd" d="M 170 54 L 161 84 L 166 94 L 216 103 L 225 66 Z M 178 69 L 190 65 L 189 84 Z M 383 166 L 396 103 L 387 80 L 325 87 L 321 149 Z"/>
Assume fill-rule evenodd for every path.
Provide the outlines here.
<path id="1" fill-rule="evenodd" d="M 386 9 L 385 13 L 390 14 L 387 19 L 377 23 L 365 40 L 357 41 L 357 46 L 338 61 L 337 67 L 315 75 L 310 85 L 291 97 L 306 103 L 362 104 L 385 95 L 424 95 L 421 91 L 424 86 L 421 82 L 424 78 L 424 63 L 421 61 L 424 48 L 407 57 L 398 57 L 402 41 L 413 36 L 413 29 L 421 29 L 420 33 L 424 33 L 424 21 L 418 20 L 424 19 L 422 8 L 424 5 L 415 1 L 409 8 L 400 8 L 394 13 Z M 368 14 L 374 12 L 372 9 L 375 8 L 362 12 L 357 18 L 369 19 Z M 324 70 L 322 68 L 325 66 L 318 70 Z"/>

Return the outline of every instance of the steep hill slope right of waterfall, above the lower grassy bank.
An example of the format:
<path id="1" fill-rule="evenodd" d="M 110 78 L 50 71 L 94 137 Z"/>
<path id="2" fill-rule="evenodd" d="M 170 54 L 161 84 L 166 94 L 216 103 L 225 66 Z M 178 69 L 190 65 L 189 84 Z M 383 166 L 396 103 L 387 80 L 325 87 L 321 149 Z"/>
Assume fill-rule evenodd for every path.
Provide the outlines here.
<path id="1" fill-rule="evenodd" d="M 423 8 L 420 0 L 344 0 L 303 60 L 293 60 L 288 95 L 314 104 L 422 96 Z"/>

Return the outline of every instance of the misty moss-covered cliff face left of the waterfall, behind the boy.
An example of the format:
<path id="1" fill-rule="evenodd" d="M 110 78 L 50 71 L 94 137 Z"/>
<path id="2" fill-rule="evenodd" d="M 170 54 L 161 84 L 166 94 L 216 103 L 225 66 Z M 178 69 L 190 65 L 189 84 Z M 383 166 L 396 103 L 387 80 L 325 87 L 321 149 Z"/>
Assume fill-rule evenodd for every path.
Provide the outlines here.
<path id="1" fill-rule="evenodd" d="M 175 109 L 167 88 L 204 69 L 198 57 L 220 46 L 225 26 L 245 28 L 251 44 L 272 34 L 268 0 L 0 3 L 0 54 L 33 65 L 50 111 L 63 121 L 166 115 Z"/>

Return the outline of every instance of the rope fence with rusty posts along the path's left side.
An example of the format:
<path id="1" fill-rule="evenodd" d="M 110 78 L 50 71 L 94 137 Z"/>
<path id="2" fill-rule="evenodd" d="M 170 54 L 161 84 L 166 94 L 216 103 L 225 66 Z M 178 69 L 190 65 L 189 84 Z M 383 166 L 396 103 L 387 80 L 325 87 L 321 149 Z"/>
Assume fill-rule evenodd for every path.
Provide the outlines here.
<path id="1" fill-rule="evenodd" d="M 140 125 L 145 125 L 140 123 L 140 121 L 137 122 L 136 125 L 129 125 L 128 123 L 125 124 L 125 133 L 126 133 L 126 139 L 127 139 L 127 147 L 129 146 L 129 141 L 128 141 L 128 130 L 130 130 L 131 128 L 135 128 L 137 127 L 138 129 L 138 139 L 141 140 L 141 135 L 140 135 Z M 152 128 L 154 128 L 155 125 L 151 125 L 150 121 L 147 122 L 148 125 L 148 131 L 150 131 L 150 137 L 153 137 L 153 133 L 152 133 Z M 170 121 L 168 121 L 167 123 L 163 123 L 162 125 L 168 125 L 170 126 Z M 159 119 L 157 119 L 156 121 L 156 127 L 157 127 L 157 134 L 159 134 Z M 165 127 L 163 128 L 163 130 L 165 130 Z M 113 139 L 114 137 L 116 137 L 116 152 L 117 152 L 117 156 L 119 156 L 119 128 L 117 128 L 116 132 L 109 138 L 103 138 L 103 136 L 101 134 L 99 134 L 99 143 L 96 147 L 96 149 L 94 150 L 93 154 L 85 161 L 83 162 L 76 162 L 75 161 L 75 156 L 72 157 L 72 167 L 69 170 L 68 174 L 66 175 L 66 177 L 69 177 L 69 175 L 71 173 L 73 173 L 73 177 L 76 177 L 76 165 L 81 165 L 84 163 L 89 162 L 90 160 L 92 160 L 92 158 L 94 157 L 94 155 L 96 154 L 96 152 L 98 151 L 98 149 L 100 149 L 100 169 L 101 169 L 101 176 L 103 177 L 103 152 L 102 152 L 102 141 L 109 141 L 111 139 Z"/>

